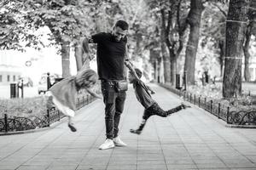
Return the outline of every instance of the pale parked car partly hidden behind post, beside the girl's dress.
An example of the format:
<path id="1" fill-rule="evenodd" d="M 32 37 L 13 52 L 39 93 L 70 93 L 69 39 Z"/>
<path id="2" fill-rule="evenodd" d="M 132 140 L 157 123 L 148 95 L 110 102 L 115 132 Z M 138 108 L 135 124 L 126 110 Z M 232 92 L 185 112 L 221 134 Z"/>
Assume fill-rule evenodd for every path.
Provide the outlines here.
<path id="1" fill-rule="evenodd" d="M 42 74 L 41 79 L 38 83 L 38 94 L 41 93 L 46 93 L 47 89 L 47 73 Z M 59 82 L 61 79 L 61 76 L 58 74 L 49 74 L 49 82 L 50 85 L 52 86 L 53 84 L 55 84 L 55 82 Z"/>

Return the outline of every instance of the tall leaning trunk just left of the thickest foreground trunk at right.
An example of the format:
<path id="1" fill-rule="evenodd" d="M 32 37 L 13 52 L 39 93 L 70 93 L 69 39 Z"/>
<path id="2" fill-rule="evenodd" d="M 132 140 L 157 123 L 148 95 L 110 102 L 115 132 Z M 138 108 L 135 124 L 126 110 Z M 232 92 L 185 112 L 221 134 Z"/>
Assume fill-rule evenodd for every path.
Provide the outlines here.
<path id="1" fill-rule="evenodd" d="M 201 13 L 203 5 L 201 0 L 191 0 L 190 11 L 187 22 L 190 26 L 189 41 L 185 54 L 184 71 L 187 72 L 188 84 L 195 84 L 195 55 L 198 47 L 200 26 L 201 26 Z"/>

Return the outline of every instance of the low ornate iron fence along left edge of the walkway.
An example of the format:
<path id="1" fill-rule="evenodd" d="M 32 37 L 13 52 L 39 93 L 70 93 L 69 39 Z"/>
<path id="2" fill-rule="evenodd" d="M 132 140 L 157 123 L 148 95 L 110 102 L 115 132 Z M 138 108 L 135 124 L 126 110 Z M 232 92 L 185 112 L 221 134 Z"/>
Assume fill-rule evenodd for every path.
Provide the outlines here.
<path id="1" fill-rule="evenodd" d="M 88 105 L 94 100 L 95 98 L 90 95 L 86 95 L 86 97 L 79 97 L 77 99 L 76 106 L 78 109 L 80 109 L 84 107 L 84 105 Z M 55 109 L 55 107 L 47 110 L 47 114 L 40 117 L 18 117 L 4 114 L 4 117 L 0 118 L 0 133 L 9 133 L 49 127 L 50 124 L 60 121 L 63 117 L 64 115 L 61 113 L 61 111 Z"/>

